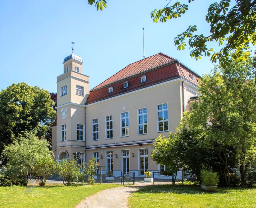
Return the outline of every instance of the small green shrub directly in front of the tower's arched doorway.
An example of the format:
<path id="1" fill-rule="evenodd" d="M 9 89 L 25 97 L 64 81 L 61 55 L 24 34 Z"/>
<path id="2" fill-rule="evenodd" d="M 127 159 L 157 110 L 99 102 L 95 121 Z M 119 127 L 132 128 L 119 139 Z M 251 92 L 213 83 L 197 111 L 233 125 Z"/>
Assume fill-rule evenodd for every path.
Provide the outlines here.
<path id="1" fill-rule="evenodd" d="M 61 163 L 58 164 L 58 174 L 65 181 L 67 186 L 74 184 L 76 176 L 76 160 L 72 159 L 68 161 L 63 159 Z"/>

